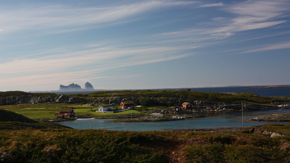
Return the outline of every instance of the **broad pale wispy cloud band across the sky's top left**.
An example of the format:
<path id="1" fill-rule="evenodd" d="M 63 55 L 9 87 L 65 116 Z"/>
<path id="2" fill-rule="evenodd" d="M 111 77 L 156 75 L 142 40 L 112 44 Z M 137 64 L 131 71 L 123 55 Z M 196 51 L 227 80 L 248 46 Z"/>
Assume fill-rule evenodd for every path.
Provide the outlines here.
<path id="1" fill-rule="evenodd" d="M 14 10 L 0 7 L 0 34 L 18 30 L 49 30 L 52 32 L 71 32 L 92 27 L 124 23 L 133 17 L 162 8 L 188 5 L 190 1 L 146 1 L 107 7 L 76 8 L 72 6 L 19 6 Z M 57 29 L 57 30 L 56 30 Z"/>

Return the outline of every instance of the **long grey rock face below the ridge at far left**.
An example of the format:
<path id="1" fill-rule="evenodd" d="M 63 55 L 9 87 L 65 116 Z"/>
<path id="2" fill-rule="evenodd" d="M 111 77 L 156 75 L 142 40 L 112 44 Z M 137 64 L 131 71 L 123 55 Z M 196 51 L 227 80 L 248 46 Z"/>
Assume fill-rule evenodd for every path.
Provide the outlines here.
<path id="1" fill-rule="evenodd" d="M 0 98 L 0 105 L 14 105 L 14 104 L 34 104 L 34 103 L 84 103 L 87 102 L 84 98 L 79 98 L 70 95 L 50 95 L 50 96 L 8 96 Z"/>

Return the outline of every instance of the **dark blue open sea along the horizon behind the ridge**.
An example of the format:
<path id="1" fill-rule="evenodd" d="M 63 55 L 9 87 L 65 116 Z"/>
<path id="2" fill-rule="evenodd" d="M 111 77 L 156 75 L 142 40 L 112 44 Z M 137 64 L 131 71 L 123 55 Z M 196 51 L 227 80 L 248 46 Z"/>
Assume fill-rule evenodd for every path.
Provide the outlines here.
<path id="1" fill-rule="evenodd" d="M 240 87 L 202 87 L 202 88 L 164 88 L 164 89 L 150 89 L 150 90 L 178 90 L 178 89 L 191 89 L 191 91 L 201 92 L 217 92 L 217 93 L 254 93 L 264 97 L 290 97 L 290 87 L 288 88 L 259 88 L 259 89 L 247 89 L 253 86 L 240 86 Z M 125 90 L 125 89 L 124 89 Z M 130 91 L 136 91 L 141 89 L 128 89 Z M 144 89 L 143 89 L 144 90 Z M 92 93 L 96 91 L 114 91 L 114 90 L 95 90 L 95 91 L 69 91 L 69 92 L 51 92 L 56 94 L 79 94 L 79 93 Z M 35 91 L 34 93 L 36 93 Z M 43 92 L 43 91 L 42 91 Z"/>

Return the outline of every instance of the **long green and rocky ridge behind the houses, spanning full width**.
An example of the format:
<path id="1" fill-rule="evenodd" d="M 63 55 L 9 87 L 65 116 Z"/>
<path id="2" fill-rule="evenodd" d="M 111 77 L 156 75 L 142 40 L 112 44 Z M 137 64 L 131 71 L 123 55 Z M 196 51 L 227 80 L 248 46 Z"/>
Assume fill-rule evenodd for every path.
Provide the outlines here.
<path id="1" fill-rule="evenodd" d="M 0 92 L 0 105 L 32 104 L 32 103 L 117 103 L 122 100 L 133 100 L 136 104 L 147 106 L 174 106 L 182 102 L 194 105 L 213 105 L 216 103 L 282 103 L 290 102 L 289 97 L 261 97 L 253 93 L 214 93 L 198 91 L 98 91 L 88 94 L 60 95 L 50 93 L 27 93 L 21 91 Z M 144 105 L 145 106 L 145 105 Z"/>

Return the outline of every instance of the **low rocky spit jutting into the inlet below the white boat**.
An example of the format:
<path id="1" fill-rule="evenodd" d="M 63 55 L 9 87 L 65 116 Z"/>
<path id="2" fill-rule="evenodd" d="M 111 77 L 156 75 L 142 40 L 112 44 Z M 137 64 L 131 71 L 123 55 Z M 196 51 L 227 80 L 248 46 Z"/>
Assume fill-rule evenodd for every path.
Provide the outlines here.
<path id="1" fill-rule="evenodd" d="M 204 116 L 163 116 L 163 117 L 142 116 L 142 117 L 139 117 L 139 118 L 121 120 L 120 122 L 158 122 L 158 121 L 172 121 L 172 120 L 186 120 L 186 119 L 193 119 L 193 118 L 203 118 L 203 117 L 207 117 L 207 116 L 213 116 L 213 115 L 204 115 Z"/>

